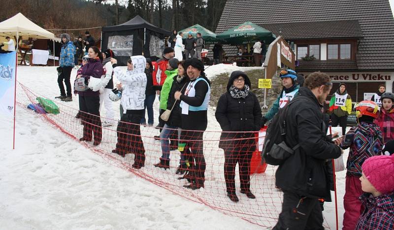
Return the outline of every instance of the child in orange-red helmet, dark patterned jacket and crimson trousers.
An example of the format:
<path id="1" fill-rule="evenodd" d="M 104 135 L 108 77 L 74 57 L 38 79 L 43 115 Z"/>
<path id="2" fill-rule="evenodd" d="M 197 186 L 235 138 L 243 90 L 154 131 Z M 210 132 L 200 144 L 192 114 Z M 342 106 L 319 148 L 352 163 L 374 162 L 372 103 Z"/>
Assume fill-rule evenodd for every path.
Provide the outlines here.
<path id="1" fill-rule="evenodd" d="M 352 127 L 344 137 L 340 147 L 350 147 L 347 161 L 345 196 L 343 204 L 343 230 L 354 230 L 357 220 L 363 211 L 359 197 L 362 194 L 361 165 L 365 159 L 381 154 L 383 148 L 382 133 L 379 127 L 373 123 L 377 117 L 379 106 L 371 101 L 364 100 L 355 105 L 358 126 Z"/>

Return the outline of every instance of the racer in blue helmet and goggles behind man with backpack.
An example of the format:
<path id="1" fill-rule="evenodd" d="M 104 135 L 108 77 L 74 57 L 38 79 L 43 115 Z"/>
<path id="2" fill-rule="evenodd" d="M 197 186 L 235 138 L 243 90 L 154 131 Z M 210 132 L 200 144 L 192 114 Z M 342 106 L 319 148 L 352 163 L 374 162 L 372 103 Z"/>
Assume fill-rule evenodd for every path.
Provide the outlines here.
<path id="1" fill-rule="evenodd" d="M 263 116 L 262 126 L 264 126 L 267 121 L 270 121 L 280 108 L 285 107 L 287 103 L 298 95 L 299 85 L 296 84 L 296 71 L 292 69 L 282 70 L 279 77 L 282 79 L 282 92 L 279 94 L 278 99 L 276 99 L 271 109 Z"/>

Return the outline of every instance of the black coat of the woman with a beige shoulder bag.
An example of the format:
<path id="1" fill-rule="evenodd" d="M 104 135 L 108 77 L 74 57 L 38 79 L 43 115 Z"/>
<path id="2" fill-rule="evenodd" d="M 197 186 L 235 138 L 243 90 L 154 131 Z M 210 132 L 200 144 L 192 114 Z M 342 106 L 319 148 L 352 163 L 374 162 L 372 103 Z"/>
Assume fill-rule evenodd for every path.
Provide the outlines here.
<path id="1" fill-rule="evenodd" d="M 173 82 L 171 85 L 171 89 L 168 94 L 168 99 L 167 99 L 167 109 L 171 109 L 172 106 L 174 105 L 175 102 L 175 92 L 176 91 L 183 91 L 185 89 L 190 81 L 189 77 L 185 76 L 181 82 L 176 81 L 177 76 L 173 77 Z M 183 88 L 183 89 L 182 89 Z M 181 103 L 180 100 L 177 100 L 175 103 L 174 108 L 172 108 L 171 114 L 168 118 L 168 121 L 165 122 L 168 126 L 172 127 L 182 127 L 182 117 L 181 117 L 181 107 L 179 107 L 179 104 Z"/>

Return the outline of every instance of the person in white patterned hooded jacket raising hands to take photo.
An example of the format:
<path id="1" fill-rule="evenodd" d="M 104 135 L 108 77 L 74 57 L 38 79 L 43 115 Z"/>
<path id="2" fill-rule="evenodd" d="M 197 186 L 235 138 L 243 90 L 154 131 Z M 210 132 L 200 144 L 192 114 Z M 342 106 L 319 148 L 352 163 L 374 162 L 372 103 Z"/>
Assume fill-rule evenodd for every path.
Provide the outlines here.
<path id="1" fill-rule="evenodd" d="M 122 83 L 121 104 L 123 115 L 118 124 L 118 142 L 113 153 L 125 157 L 134 153 L 133 168 L 139 169 L 145 165 L 145 148 L 141 139 L 139 123 L 144 114 L 146 74 L 146 59 L 144 56 L 132 56 L 127 62 L 126 72 L 117 65 L 116 59 L 111 59 L 116 78 Z M 128 134 L 125 134 L 128 133 Z"/>

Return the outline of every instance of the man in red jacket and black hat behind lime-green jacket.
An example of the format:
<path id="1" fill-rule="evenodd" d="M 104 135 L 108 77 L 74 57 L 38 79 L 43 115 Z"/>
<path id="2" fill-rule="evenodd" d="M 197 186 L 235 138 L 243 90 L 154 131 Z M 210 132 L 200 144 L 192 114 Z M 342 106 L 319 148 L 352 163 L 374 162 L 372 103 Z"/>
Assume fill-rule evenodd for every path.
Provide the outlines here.
<path id="1" fill-rule="evenodd" d="M 168 60 L 173 58 L 175 55 L 174 49 L 171 47 L 165 47 L 163 52 L 163 57 L 156 61 L 154 70 L 152 73 L 153 78 L 153 88 L 156 90 L 156 94 L 160 95 L 163 83 L 167 75 L 165 75 L 165 70 L 167 70 Z"/>

